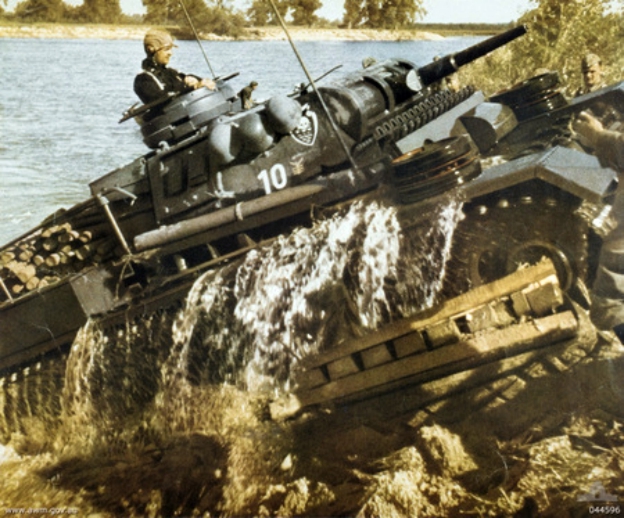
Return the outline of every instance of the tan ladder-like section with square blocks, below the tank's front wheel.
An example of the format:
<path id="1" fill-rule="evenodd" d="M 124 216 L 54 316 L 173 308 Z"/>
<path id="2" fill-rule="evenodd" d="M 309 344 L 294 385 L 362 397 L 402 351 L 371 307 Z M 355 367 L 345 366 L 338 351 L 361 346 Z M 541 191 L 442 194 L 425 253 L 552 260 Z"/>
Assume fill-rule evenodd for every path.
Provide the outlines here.
<path id="1" fill-rule="evenodd" d="M 294 400 L 274 402 L 271 414 L 281 419 L 313 405 L 424 384 L 435 385 L 432 399 L 440 399 L 461 386 L 449 379 L 501 361 L 516 368 L 532 351 L 569 340 L 577 330 L 554 266 L 542 261 L 307 359 Z"/>

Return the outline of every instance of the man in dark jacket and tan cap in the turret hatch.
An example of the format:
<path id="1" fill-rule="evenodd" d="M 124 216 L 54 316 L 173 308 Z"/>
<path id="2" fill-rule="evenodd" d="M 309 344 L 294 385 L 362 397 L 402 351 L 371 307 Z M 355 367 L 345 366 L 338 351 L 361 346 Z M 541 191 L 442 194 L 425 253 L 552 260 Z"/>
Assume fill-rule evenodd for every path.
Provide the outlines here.
<path id="1" fill-rule="evenodd" d="M 212 79 L 182 74 L 167 67 L 173 48 L 177 47 L 167 31 L 150 29 L 143 38 L 143 47 L 147 57 L 142 63 L 143 71 L 134 79 L 134 92 L 144 104 L 156 101 L 168 93 L 186 93 L 202 87 L 210 90 L 216 88 Z"/>

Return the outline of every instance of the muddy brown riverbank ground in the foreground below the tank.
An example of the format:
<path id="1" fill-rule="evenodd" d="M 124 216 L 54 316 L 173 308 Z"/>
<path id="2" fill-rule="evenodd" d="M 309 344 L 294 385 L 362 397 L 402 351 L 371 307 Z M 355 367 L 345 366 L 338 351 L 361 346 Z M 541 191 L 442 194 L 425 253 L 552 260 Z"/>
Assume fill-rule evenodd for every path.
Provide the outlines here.
<path id="1" fill-rule="evenodd" d="M 27 433 L 0 447 L 0 510 L 617 515 L 624 505 L 623 373 L 623 346 L 584 319 L 573 343 L 541 351 L 489 384 L 451 387 L 457 394 L 426 408 L 415 403 L 418 388 L 404 388 L 275 422 L 266 397 L 185 386 L 123 422 L 76 414 L 24 423 Z"/>

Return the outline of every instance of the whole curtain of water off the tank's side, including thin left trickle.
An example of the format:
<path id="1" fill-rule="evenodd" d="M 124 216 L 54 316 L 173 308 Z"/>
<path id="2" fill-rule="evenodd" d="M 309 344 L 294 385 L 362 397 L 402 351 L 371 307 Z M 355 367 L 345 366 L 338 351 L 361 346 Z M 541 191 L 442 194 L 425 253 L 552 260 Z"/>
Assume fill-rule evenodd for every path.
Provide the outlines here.
<path id="1" fill-rule="evenodd" d="M 153 402 L 182 412 L 192 387 L 292 389 L 306 356 L 435 302 L 460 206 L 448 196 L 415 214 L 359 201 L 207 271 L 181 309 L 89 322 L 67 360 L 61 420 L 114 434 Z"/>

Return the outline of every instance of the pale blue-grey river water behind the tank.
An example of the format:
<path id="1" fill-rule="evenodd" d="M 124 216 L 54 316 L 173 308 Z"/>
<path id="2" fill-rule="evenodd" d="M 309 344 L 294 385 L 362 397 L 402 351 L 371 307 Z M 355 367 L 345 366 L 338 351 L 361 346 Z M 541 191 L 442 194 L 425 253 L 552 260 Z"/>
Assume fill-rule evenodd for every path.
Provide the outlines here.
<path id="1" fill-rule="evenodd" d="M 300 42 L 300 54 L 318 77 L 337 76 L 362 59 L 401 57 L 425 64 L 478 37 L 404 42 Z M 209 76 L 196 42 L 178 42 L 171 66 Z M 286 41 L 206 42 L 217 75 L 240 72 L 232 85 L 260 83 L 257 99 L 292 91 L 305 81 Z M 132 82 L 140 69 L 139 41 L 0 40 L 0 243 L 26 232 L 60 207 L 89 196 L 88 183 L 147 148 L 133 121 L 118 124 L 137 99 Z M 329 81 L 329 76 L 325 81 Z"/>

